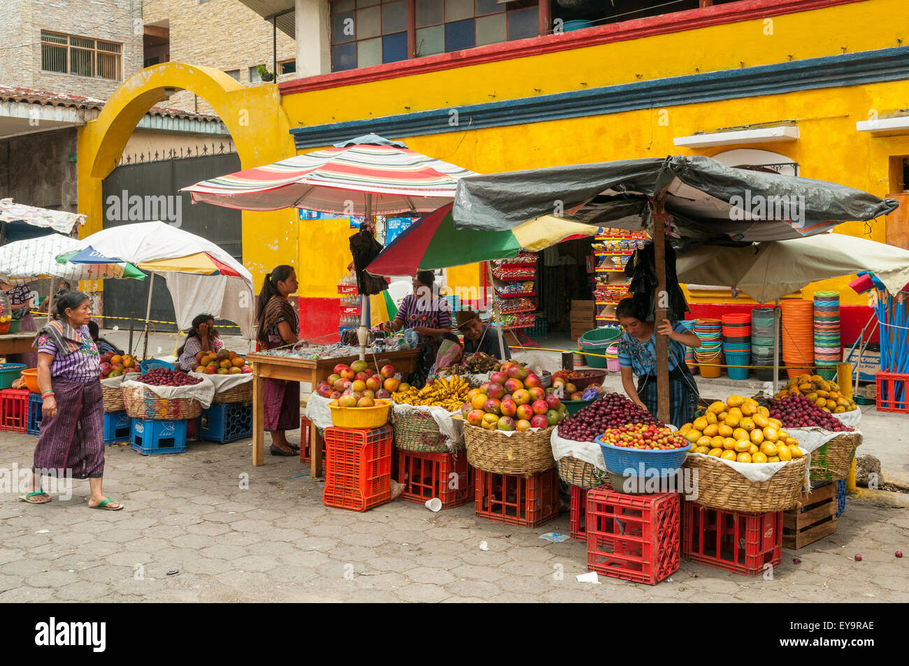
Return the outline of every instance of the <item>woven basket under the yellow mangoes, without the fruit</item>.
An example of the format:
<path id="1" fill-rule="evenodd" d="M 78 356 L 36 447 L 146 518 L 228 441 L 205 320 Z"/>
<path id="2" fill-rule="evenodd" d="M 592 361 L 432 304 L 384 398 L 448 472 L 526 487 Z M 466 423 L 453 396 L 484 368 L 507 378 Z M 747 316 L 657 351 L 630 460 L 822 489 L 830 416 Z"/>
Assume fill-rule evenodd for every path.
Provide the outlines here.
<path id="1" fill-rule="evenodd" d="M 722 511 L 786 511 L 802 494 L 808 457 L 786 462 L 767 481 L 752 482 L 730 465 L 709 455 L 689 455 L 684 469 L 696 472 L 697 503 Z"/>

